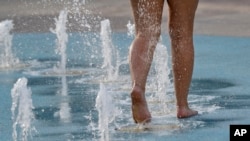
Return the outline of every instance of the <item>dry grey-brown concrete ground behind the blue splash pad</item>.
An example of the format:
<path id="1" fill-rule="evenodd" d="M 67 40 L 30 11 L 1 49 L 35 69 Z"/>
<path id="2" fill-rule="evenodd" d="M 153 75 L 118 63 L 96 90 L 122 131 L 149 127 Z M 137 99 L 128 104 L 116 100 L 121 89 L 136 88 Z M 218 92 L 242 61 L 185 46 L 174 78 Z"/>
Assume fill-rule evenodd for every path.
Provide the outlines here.
<path id="1" fill-rule="evenodd" d="M 129 0 L 0 0 L 0 21 L 12 19 L 14 32 L 47 32 L 64 8 L 87 14 L 86 19 L 96 30 L 99 21 L 108 18 L 113 31 L 125 32 L 126 24 L 133 19 Z M 163 32 L 167 32 L 167 14 L 166 4 Z M 69 16 L 71 31 L 85 30 L 79 19 Z M 195 34 L 248 37 L 249 26 L 249 0 L 200 0 Z"/>

